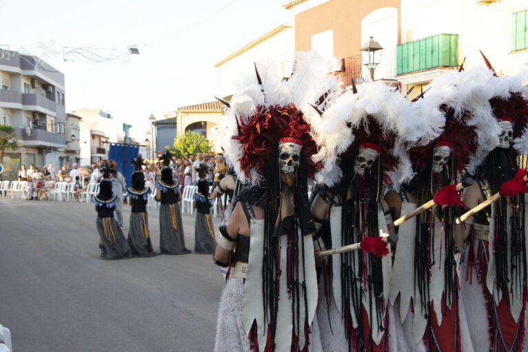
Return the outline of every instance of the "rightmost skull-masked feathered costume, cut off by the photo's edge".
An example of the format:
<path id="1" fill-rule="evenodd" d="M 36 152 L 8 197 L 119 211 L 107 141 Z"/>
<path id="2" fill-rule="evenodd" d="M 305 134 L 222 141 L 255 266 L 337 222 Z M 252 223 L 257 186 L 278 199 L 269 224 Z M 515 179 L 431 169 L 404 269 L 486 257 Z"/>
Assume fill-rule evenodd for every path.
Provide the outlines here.
<path id="1" fill-rule="evenodd" d="M 468 203 L 500 191 L 516 175 L 518 153 L 528 152 L 528 91 L 521 82 L 520 77 L 496 77 L 492 71 L 483 75 L 481 84 L 493 94 L 489 103 L 500 133 L 494 133 L 498 147 L 483 158 L 474 172 L 476 183 L 466 189 Z M 475 351 L 526 347 L 526 202 L 525 194 L 503 196 L 465 222 L 469 238 L 461 258 L 460 287 Z"/>

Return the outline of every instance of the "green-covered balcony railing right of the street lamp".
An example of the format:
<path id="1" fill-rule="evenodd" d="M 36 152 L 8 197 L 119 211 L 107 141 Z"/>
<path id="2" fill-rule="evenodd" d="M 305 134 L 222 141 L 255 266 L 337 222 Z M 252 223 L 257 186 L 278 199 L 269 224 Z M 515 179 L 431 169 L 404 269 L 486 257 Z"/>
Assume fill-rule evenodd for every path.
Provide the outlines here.
<path id="1" fill-rule="evenodd" d="M 436 34 L 396 45 L 396 75 L 458 67 L 458 34 Z"/>

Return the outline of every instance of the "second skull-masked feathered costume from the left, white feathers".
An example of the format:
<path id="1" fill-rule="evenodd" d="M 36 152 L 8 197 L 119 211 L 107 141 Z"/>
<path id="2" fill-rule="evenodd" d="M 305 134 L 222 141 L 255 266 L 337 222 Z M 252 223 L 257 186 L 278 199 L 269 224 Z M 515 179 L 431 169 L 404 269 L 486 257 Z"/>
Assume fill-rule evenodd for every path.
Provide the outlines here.
<path id="1" fill-rule="evenodd" d="M 419 139 L 416 125 L 423 127 L 420 133 L 430 129 L 428 121 L 416 118 L 411 127 L 407 110 L 409 103 L 401 94 L 372 84 L 361 94 L 343 94 L 321 116 L 319 124 L 324 127 L 317 129 L 317 141 L 338 151 L 340 159 L 317 178 L 321 183 L 318 197 L 327 209 L 325 219 L 317 219 L 325 247 L 389 233 L 383 189 L 392 183 L 389 173 L 401 162 L 392 153 L 402 148 L 405 138 L 409 142 Z M 342 175 L 341 180 L 337 182 L 332 174 Z M 409 174 L 401 172 L 400 178 Z M 388 254 L 389 245 L 384 247 Z M 387 305 L 391 266 L 390 255 L 380 258 L 362 251 L 329 259 L 322 273 L 317 311 L 324 351 L 396 351 L 396 331 L 389 324 L 392 307 Z"/>

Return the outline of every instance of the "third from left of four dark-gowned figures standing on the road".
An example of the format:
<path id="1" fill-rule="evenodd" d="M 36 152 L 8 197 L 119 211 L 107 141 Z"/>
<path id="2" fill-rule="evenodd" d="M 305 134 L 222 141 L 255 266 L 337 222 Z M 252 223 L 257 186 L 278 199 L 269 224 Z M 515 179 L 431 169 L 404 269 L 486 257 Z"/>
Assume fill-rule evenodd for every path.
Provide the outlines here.
<path id="1" fill-rule="evenodd" d="M 170 152 L 165 150 L 161 160 L 161 180 L 156 182 L 156 200 L 161 202 L 159 207 L 159 249 L 164 254 L 187 254 L 191 251 L 185 248 L 183 236 L 183 222 L 181 221 L 180 185 L 172 178 Z"/>

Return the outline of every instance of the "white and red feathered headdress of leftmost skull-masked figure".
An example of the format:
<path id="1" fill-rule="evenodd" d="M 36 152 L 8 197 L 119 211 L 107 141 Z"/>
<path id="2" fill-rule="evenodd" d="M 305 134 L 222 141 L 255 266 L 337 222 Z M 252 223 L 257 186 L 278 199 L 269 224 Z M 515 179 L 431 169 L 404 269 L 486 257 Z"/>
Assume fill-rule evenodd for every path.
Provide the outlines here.
<path id="1" fill-rule="evenodd" d="M 317 114 L 311 105 L 324 108 L 332 100 L 338 79 L 327 74 L 325 61 L 316 52 L 299 52 L 287 81 L 276 68 L 275 63 L 256 63 L 227 110 L 225 156 L 243 181 L 263 178 L 265 161 L 281 138 L 295 138 L 303 146 L 309 176 L 323 167 L 322 158 L 312 159 L 318 146 L 310 135 L 309 114 Z"/>

